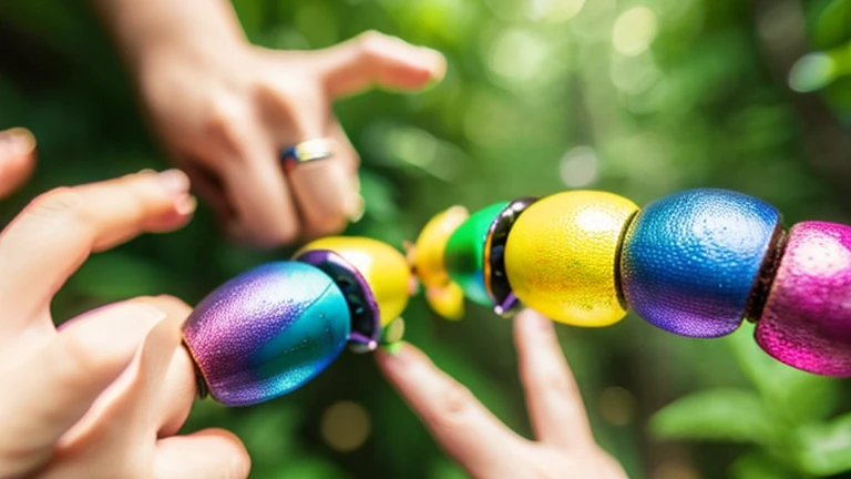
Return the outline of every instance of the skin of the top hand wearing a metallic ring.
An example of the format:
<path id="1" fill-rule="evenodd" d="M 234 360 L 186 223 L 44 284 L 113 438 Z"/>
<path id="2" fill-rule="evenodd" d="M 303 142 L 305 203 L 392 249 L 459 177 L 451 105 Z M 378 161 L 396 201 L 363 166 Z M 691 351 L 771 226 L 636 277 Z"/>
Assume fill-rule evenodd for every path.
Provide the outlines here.
<path id="1" fill-rule="evenodd" d="M 229 2 L 90 0 L 116 38 L 154 132 L 236 240 L 274 247 L 337 234 L 362 214 L 360 159 L 335 100 L 417 91 L 444 58 L 376 32 L 316 51 L 252 45 Z M 285 174 L 280 152 L 327 137 L 332 156 Z"/>

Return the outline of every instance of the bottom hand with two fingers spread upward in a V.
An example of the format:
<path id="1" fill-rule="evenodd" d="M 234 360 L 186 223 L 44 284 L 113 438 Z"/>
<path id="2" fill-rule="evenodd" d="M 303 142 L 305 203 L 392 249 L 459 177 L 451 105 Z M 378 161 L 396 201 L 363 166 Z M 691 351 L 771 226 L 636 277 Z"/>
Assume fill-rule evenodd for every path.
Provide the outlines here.
<path id="1" fill-rule="evenodd" d="M 625 479 L 594 440 L 551 320 L 525 310 L 514 322 L 520 376 L 537 441 L 493 416 L 418 348 L 379 351 L 379 367 L 438 444 L 474 478 Z"/>

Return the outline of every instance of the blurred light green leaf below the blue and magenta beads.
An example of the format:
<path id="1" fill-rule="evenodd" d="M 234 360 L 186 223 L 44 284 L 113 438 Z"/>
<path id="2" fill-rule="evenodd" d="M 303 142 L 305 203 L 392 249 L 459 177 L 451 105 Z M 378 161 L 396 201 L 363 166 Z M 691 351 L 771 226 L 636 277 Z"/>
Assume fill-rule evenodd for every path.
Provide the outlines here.
<path id="1" fill-rule="evenodd" d="M 712 389 L 677 399 L 654 415 L 650 428 L 655 436 L 665 439 L 759 445 L 781 439 L 759 396 L 736 389 Z"/>

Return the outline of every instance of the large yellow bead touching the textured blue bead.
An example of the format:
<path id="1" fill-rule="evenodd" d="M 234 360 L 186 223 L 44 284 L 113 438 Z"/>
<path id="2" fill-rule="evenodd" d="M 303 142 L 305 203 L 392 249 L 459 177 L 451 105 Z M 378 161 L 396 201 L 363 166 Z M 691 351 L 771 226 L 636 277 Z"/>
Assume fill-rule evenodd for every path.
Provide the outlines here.
<path id="1" fill-rule="evenodd" d="M 638 206 L 603 192 L 572 191 L 533 203 L 505 245 L 505 274 L 517 298 L 553 320 L 608 326 L 626 310 L 616 258 Z"/>

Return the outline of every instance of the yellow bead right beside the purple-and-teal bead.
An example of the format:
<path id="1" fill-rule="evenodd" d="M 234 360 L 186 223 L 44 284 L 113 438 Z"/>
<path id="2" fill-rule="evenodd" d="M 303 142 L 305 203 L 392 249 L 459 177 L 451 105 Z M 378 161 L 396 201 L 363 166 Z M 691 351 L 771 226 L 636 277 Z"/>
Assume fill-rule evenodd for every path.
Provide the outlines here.
<path id="1" fill-rule="evenodd" d="M 305 245 L 308 249 L 330 249 L 352 264 L 367 281 L 378 303 L 381 327 L 402 314 L 411 297 L 411 274 L 401 252 L 380 241 L 359 236 L 331 236 Z"/>

